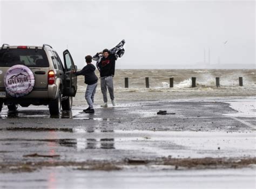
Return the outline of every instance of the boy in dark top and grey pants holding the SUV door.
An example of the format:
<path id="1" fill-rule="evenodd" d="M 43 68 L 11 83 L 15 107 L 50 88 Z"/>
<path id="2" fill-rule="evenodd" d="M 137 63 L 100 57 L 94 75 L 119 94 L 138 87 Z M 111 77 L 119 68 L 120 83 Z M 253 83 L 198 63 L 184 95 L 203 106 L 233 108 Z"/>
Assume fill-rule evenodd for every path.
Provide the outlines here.
<path id="1" fill-rule="evenodd" d="M 89 107 L 84 110 L 85 113 L 94 113 L 93 102 L 97 89 L 98 77 L 95 75 L 95 66 L 92 64 L 92 56 L 87 55 L 85 57 L 86 66 L 81 71 L 73 71 L 76 76 L 83 75 L 84 83 L 87 84 L 85 99 Z"/>

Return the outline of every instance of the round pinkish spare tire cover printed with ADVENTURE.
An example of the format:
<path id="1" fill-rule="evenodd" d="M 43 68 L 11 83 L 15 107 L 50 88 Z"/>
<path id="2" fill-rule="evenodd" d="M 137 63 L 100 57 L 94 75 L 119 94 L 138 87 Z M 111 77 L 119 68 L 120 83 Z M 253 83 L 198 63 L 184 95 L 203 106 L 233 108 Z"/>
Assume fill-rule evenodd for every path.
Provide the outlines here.
<path id="1" fill-rule="evenodd" d="M 33 72 L 24 65 L 14 65 L 4 75 L 6 92 L 12 97 L 28 95 L 35 85 Z"/>

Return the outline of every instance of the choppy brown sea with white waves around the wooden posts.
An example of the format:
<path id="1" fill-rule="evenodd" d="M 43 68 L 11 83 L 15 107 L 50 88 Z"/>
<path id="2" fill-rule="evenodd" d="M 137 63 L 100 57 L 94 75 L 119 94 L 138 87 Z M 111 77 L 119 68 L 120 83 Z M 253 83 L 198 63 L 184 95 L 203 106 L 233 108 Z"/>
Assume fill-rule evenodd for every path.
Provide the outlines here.
<path id="1" fill-rule="evenodd" d="M 256 94 L 256 69 L 245 70 L 116 70 L 114 91 L 119 100 L 168 100 L 193 97 L 244 97 Z M 99 72 L 96 70 L 96 75 Z M 125 88 L 125 77 L 129 78 L 129 88 Z M 149 77 L 150 88 L 145 87 L 145 77 Z M 170 88 L 170 78 L 174 87 Z M 196 77 L 196 88 L 191 88 L 192 77 Z M 220 78 L 216 87 L 215 78 Z M 239 86 L 239 77 L 244 86 Z M 78 96 L 83 97 L 86 89 L 84 78 L 78 77 Z M 83 97 L 84 98 L 84 97 Z M 102 102 L 100 82 L 96 93 Z M 76 100 L 75 100 L 76 101 Z"/>

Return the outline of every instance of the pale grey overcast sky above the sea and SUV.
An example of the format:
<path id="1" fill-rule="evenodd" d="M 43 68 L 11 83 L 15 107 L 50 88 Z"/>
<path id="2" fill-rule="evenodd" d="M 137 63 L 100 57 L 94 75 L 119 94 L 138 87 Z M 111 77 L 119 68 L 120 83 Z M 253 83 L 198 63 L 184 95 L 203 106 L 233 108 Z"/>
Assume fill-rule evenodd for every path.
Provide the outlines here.
<path id="1" fill-rule="evenodd" d="M 255 64 L 254 1 L 1 1 L 0 43 L 84 56 L 125 39 L 117 68 Z M 227 43 L 224 45 L 224 42 Z"/>

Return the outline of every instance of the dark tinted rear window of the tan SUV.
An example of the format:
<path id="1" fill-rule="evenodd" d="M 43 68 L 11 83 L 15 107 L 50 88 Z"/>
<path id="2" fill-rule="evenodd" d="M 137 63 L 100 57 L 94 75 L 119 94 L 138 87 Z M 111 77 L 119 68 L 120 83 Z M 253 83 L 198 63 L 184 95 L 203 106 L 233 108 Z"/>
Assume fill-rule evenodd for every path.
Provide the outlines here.
<path id="1" fill-rule="evenodd" d="M 0 50 L 0 67 L 22 64 L 28 67 L 48 67 L 46 53 L 42 49 L 2 49 Z"/>

